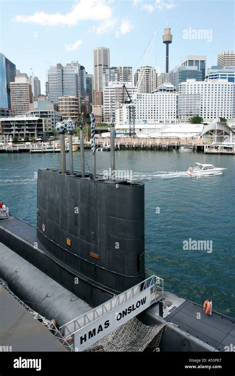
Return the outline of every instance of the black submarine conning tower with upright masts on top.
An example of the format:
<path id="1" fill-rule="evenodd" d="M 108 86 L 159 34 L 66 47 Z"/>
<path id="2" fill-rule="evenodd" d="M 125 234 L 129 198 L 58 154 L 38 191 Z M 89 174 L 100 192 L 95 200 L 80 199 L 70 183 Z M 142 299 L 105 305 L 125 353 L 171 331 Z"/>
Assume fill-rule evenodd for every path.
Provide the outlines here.
<path id="1" fill-rule="evenodd" d="M 62 170 L 65 154 L 61 171 L 38 171 L 37 238 L 65 268 L 118 294 L 145 278 L 144 184 L 97 175 L 94 158 L 93 174 Z"/>

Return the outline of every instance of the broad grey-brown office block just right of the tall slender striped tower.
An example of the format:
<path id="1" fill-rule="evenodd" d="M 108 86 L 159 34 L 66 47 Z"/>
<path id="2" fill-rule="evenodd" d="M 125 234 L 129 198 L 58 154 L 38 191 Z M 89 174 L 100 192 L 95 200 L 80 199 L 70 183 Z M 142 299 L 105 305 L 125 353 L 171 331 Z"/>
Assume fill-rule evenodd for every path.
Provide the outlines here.
<path id="1" fill-rule="evenodd" d="M 108 86 L 109 82 L 130 82 L 132 84 L 132 67 L 118 66 L 104 69 L 104 86 Z"/>

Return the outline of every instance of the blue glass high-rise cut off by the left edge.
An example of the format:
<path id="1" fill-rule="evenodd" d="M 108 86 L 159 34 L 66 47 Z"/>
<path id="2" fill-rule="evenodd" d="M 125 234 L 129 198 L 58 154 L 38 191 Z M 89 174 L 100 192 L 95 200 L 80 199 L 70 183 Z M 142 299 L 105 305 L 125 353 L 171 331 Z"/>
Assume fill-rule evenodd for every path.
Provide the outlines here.
<path id="1" fill-rule="evenodd" d="M 15 76 L 15 64 L 0 52 L 0 108 L 11 108 L 10 82 L 14 82 Z"/>

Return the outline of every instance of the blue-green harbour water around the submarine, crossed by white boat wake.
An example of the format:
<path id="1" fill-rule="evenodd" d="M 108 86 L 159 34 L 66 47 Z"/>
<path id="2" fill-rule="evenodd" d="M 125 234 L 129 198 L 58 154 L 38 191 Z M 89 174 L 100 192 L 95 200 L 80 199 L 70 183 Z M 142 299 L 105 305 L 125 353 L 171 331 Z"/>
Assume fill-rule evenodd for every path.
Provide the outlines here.
<path id="1" fill-rule="evenodd" d="M 73 153 L 80 170 L 80 153 Z M 165 288 L 235 317 L 235 158 L 179 151 L 121 150 L 116 169 L 145 183 L 146 270 L 164 278 Z M 68 154 L 67 154 L 68 168 Z M 194 162 L 228 170 L 190 177 Z M 60 155 L 0 154 L 0 199 L 10 213 L 36 225 L 37 170 L 59 167 Z M 86 171 L 91 152 L 85 151 Z M 97 153 L 97 173 L 110 168 L 110 152 Z M 136 202 L 138 205 L 138 202 Z M 186 241 L 207 240 L 206 249 L 185 249 Z M 191 247 L 193 248 L 193 247 Z"/>

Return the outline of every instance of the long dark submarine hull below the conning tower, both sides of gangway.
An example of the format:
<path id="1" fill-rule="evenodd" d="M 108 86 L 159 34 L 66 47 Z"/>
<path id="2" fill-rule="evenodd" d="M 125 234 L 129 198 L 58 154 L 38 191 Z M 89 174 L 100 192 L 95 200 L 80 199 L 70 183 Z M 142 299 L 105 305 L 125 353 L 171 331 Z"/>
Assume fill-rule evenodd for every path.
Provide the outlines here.
<path id="1" fill-rule="evenodd" d="M 42 249 L 34 248 L 35 235 L 36 228 L 14 217 L 0 221 L 0 241 L 5 244 L 4 249 L 0 246 L 0 277 L 35 311 L 48 319 L 56 318 L 62 326 L 113 296 L 110 291 L 91 286 L 81 278 L 75 285 L 73 273 L 66 271 Z M 90 292 L 92 304 L 78 298 L 84 291 Z M 138 316 L 146 325 L 173 323 L 163 332 L 160 351 L 225 351 L 226 346 L 234 343 L 233 319 L 216 312 L 208 317 L 201 306 L 183 298 L 177 305 L 174 302 L 177 298 L 165 291 L 164 300 L 169 302 L 171 299 L 174 307 L 164 319 L 159 317 L 159 303 Z M 201 320 L 195 320 L 197 312 L 201 312 Z"/>

